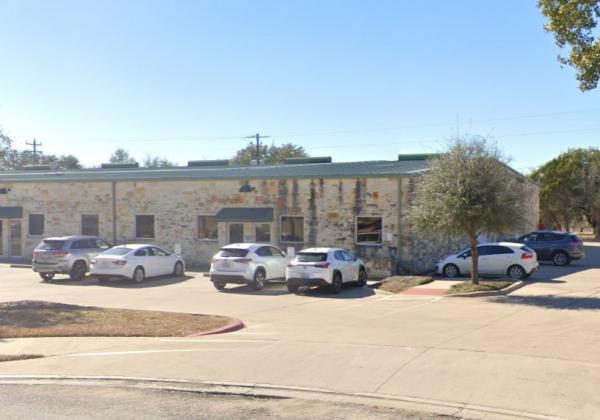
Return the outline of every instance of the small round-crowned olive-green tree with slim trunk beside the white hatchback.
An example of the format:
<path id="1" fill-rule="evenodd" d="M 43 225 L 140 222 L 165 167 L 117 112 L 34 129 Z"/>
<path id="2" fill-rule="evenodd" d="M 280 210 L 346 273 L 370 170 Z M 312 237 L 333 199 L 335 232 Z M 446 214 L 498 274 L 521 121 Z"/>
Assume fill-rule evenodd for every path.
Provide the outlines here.
<path id="1" fill-rule="evenodd" d="M 525 221 L 525 179 L 506 164 L 495 143 L 471 136 L 451 140 L 430 160 L 410 209 L 412 228 L 465 235 L 471 247 L 471 282 L 479 283 L 477 238 L 514 232 Z"/>

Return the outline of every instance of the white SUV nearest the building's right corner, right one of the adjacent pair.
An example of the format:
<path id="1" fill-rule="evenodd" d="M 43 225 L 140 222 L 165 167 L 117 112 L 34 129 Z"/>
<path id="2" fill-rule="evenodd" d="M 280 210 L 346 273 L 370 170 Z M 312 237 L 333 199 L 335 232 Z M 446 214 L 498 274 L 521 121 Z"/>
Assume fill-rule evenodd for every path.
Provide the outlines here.
<path id="1" fill-rule="evenodd" d="M 344 283 L 367 284 L 365 263 L 341 248 L 303 249 L 290 261 L 286 270 L 287 288 L 291 293 L 303 286 L 325 286 L 339 293 Z"/>

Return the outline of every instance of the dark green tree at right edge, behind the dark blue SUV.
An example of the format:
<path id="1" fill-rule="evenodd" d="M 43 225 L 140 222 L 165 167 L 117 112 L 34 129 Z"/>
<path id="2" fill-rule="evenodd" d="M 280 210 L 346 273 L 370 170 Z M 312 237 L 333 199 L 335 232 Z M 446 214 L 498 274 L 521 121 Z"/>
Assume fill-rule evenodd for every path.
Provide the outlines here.
<path id="1" fill-rule="evenodd" d="M 585 218 L 599 235 L 600 150 L 571 149 L 531 174 L 540 187 L 542 215 L 563 224 Z"/>

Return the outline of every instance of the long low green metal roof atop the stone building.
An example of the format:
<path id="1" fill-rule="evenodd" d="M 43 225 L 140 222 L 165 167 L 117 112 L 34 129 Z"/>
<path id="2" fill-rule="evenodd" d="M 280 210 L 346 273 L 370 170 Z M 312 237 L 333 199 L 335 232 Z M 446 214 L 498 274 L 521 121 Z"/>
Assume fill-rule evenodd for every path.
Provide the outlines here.
<path id="1" fill-rule="evenodd" d="M 0 184 L 13 182 L 99 182 L 238 180 L 293 178 L 366 178 L 410 175 L 427 169 L 423 159 L 297 165 L 183 166 L 175 168 L 100 168 L 0 171 Z"/>

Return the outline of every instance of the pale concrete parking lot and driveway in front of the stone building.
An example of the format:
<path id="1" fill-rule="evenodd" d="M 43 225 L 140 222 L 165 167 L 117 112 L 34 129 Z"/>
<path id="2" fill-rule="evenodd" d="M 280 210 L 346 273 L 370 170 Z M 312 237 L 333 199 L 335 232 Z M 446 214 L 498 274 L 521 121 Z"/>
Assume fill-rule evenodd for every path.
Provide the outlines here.
<path id="1" fill-rule="evenodd" d="M 0 266 L 2 301 L 210 313 L 245 329 L 194 339 L 3 340 L 0 353 L 54 357 L 2 364 L 2 374 L 119 375 L 316 387 L 460 402 L 515 413 L 592 418 L 600 409 L 600 244 L 572 266 L 543 264 L 508 296 L 339 295 L 216 291 L 203 273 L 142 284 L 40 282 Z"/>

